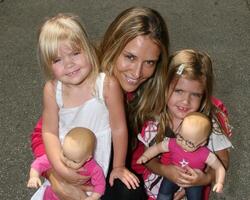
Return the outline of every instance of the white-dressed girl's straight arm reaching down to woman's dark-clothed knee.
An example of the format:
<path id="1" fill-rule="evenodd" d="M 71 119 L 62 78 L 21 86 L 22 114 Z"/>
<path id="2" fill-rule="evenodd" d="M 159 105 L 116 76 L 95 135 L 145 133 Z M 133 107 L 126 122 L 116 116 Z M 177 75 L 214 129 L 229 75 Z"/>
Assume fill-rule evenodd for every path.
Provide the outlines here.
<path id="1" fill-rule="evenodd" d="M 118 81 L 111 76 L 106 76 L 104 84 L 104 98 L 109 110 L 110 126 L 113 141 L 113 171 L 110 175 L 110 184 L 113 179 L 119 178 L 130 189 L 139 186 L 139 179 L 125 168 L 128 146 L 128 131 L 124 110 L 123 92 Z"/>

